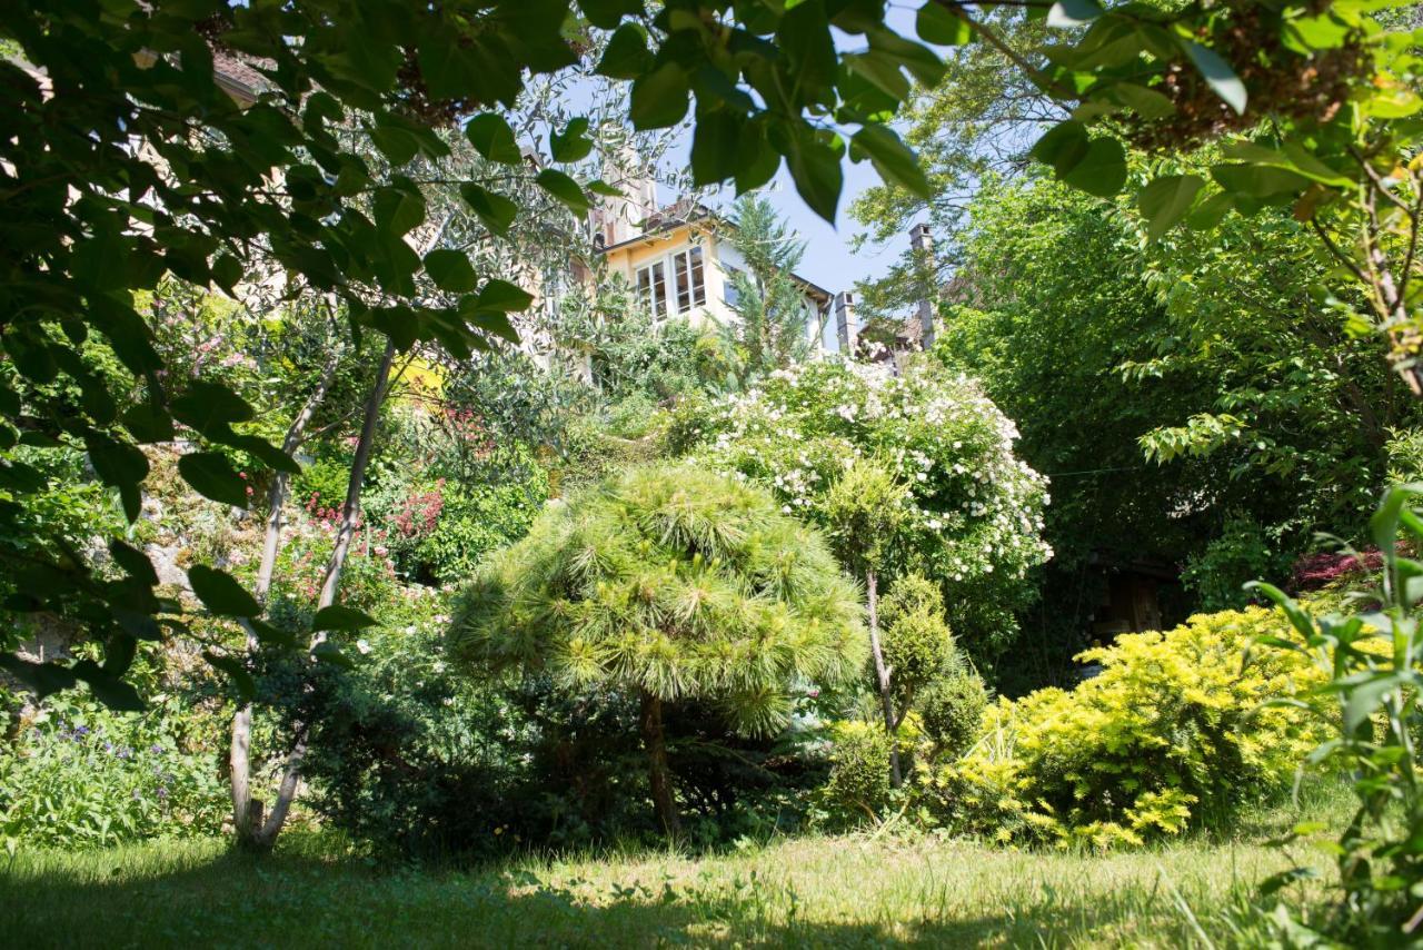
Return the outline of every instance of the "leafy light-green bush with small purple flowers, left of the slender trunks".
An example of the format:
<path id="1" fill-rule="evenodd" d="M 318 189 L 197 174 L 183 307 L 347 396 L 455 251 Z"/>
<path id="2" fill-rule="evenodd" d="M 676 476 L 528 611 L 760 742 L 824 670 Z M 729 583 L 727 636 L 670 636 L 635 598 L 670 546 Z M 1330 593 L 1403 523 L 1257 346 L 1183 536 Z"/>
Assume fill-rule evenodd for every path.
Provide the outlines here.
<path id="1" fill-rule="evenodd" d="M 47 698 L 0 745 L 3 843 L 83 849 L 216 835 L 231 810 L 212 743 L 221 728 L 189 696 L 161 694 L 142 714 Z"/>

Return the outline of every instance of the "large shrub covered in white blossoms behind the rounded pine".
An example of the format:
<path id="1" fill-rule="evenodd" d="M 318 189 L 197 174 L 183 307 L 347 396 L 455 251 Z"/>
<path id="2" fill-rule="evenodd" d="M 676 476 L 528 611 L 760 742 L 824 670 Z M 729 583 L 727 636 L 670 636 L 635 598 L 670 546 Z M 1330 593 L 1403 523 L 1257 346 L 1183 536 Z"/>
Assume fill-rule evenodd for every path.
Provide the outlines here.
<path id="1" fill-rule="evenodd" d="M 943 585 L 979 655 L 1016 634 L 1017 581 L 1052 557 L 1047 480 L 1013 454 L 1016 439 L 978 385 L 928 357 L 901 376 L 841 362 L 778 370 L 743 395 L 683 402 L 667 433 L 673 454 L 757 481 L 811 521 L 854 459 L 877 459 L 909 487 L 898 557 Z"/>

